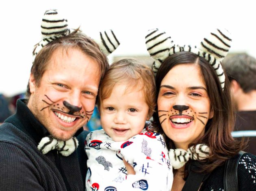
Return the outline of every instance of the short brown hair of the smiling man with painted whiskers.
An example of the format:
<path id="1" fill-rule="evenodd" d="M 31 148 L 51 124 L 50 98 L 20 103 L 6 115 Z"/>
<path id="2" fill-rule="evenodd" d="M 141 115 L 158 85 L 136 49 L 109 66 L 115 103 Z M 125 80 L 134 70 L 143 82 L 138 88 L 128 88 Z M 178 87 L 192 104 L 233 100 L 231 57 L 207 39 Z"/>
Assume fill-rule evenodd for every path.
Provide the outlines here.
<path id="1" fill-rule="evenodd" d="M 53 40 L 48 45 L 43 47 L 41 51 L 39 51 L 39 53 L 36 55 L 35 62 L 31 68 L 31 74 L 34 76 L 37 86 L 39 86 L 41 78 L 44 72 L 47 70 L 47 65 L 52 56 L 52 53 L 58 48 L 63 48 L 67 51 L 67 49 L 70 47 L 79 48 L 86 55 L 98 62 L 101 70 L 101 79 L 103 78 L 105 72 L 109 68 L 106 55 L 100 51 L 100 47 L 94 40 L 77 29 L 67 36 Z M 29 98 L 30 95 L 31 93 L 28 84 L 26 96 Z"/>

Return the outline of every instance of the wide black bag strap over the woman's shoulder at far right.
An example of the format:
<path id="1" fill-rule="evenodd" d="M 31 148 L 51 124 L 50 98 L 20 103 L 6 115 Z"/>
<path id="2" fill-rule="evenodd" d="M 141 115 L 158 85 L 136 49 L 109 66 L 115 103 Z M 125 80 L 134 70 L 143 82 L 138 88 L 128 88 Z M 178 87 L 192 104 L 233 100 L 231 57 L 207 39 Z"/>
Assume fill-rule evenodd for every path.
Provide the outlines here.
<path id="1" fill-rule="evenodd" d="M 238 178 L 237 178 L 237 167 L 239 160 L 246 153 L 240 151 L 239 154 L 235 155 L 231 159 L 226 160 L 224 170 L 224 191 L 239 191 L 238 190 Z"/>

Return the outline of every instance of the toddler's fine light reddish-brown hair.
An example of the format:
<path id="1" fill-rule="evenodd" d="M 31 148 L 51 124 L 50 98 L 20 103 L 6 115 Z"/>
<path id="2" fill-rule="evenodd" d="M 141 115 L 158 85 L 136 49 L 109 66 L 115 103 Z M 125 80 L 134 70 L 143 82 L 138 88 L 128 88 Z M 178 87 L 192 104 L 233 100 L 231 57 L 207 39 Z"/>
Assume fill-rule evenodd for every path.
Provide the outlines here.
<path id="1" fill-rule="evenodd" d="M 114 62 L 102 79 L 98 93 L 98 108 L 102 101 L 111 96 L 116 84 L 127 84 L 126 91 L 138 85 L 143 90 L 145 101 L 149 106 L 148 117 L 151 117 L 156 106 L 156 83 L 152 70 L 135 59 L 121 59 Z"/>

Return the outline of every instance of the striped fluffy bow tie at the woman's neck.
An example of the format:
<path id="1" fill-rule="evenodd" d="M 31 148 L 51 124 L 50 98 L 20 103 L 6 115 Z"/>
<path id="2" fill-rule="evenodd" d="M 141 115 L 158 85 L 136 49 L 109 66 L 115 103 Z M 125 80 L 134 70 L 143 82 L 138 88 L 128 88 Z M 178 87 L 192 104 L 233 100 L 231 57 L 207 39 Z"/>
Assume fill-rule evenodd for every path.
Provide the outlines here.
<path id="1" fill-rule="evenodd" d="M 191 146 L 187 151 L 184 149 L 170 149 L 169 158 L 174 169 L 185 165 L 189 159 L 204 160 L 209 156 L 209 147 L 206 144 Z"/>

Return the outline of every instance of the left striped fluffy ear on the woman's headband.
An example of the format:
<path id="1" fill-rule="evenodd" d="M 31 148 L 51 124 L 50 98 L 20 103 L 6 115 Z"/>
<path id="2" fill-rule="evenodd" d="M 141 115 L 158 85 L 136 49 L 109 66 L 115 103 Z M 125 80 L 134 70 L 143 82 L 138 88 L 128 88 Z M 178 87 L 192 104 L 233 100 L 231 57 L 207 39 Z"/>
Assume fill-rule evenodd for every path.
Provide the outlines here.
<path id="1" fill-rule="evenodd" d="M 174 46 L 171 37 L 158 29 L 149 30 L 145 40 L 150 56 L 160 63 L 169 56 L 169 50 Z M 160 65 L 158 62 L 155 64 L 157 68 Z"/>

